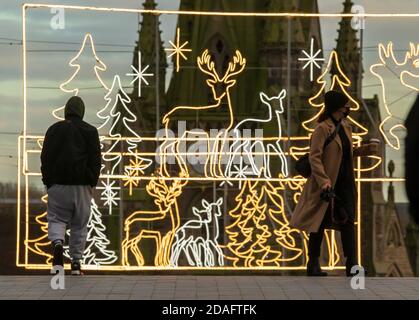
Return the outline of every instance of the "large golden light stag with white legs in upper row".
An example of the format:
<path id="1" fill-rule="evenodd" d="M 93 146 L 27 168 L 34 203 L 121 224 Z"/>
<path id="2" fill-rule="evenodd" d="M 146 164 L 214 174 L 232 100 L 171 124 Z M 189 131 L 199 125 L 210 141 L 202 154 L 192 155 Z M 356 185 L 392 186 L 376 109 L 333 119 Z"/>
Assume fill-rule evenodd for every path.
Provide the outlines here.
<path id="1" fill-rule="evenodd" d="M 228 117 L 224 122 L 222 122 L 221 127 L 218 128 L 218 134 L 215 137 L 215 141 L 212 145 L 209 142 L 209 132 L 203 133 L 204 140 L 208 141 L 207 150 L 209 152 L 209 156 L 206 158 L 205 162 L 205 175 L 208 176 L 210 174 L 211 176 L 218 177 L 220 175 L 222 176 L 223 174 L 221 170 L 221 150 L 223 150 L 228 131 L 232 128 L 234 121 L 233 106 L 231 104 L 230 98 L 230 90 L 236 84 L 236 80 L 232 78 L 237 76 L 244 70 L 246 66 L 246 59 L 243 58 L 240 51 L 237 50 L 233 58 L 233 62 L 229 63 L 228 69 L 222 78 L 220 78 L 220 76 L 218 75 L 215 68 L 215 64 L 213 61 L 211 61 L 211 56 L 209 55 L 208 50 L 205 50 L 202 56 L 198 57 L 197 63 L 199 70 L 210 76 L 210 79 L 208 79 L 206 83 L 212 90 L 215 103 L 208 106 L 175 107 L 163 117 L 162 122 L 165 127 L 166 137 L 168 137 L 169 129 L 173 127 L 173 121 L 184 121 L 185 123 L 188 123 L 191 121 L 191 114 L 193 114 L 193 119 L 195 119 L 198 116 L 200 119 L 206 119 L 208 113 L 213 114 L 214 109 L 218 109 L 217 111 L 220 112 L 227 112 Z M 217 87 L 222 87 L 222 92 L 218 92 Z M 175 155 L 175 158 L 177 160 L 177 163 L 181 167 L 181 170 L 188 172 L 185 161 L 179 155 L 179 149 L 180 143 L 182 142 L 182 140 L 188 137 L 189 133 L 191 133 L 191 131 L 185 131 L 182 137 L 177 137 L 177 139 L 174 140 L 166 140 L 161 145 L 160 173 L 162 175 L 170 176 L 166 167 L 166 153 L 168 151 Z M 194 136 L 196 136 L 196 133 L 194 133 Z"/>

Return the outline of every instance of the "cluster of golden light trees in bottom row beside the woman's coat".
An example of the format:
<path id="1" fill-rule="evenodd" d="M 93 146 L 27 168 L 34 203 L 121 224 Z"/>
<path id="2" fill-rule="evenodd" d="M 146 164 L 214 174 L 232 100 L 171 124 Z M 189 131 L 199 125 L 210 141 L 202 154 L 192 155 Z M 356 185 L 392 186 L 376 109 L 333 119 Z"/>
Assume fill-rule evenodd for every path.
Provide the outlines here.
<path id="1" fill-rule="evenodd" d="M 274 187 L 268 181 L 244 183 L 236 197 L 237 206 L 229 212 L 233 222 L 226 227 L 226 258 L 233 266 L 279 267 L 302 256 L 296 238 L 305 240 L 289 226 L 280 195 L 283 190 L 283 184 Z"/>

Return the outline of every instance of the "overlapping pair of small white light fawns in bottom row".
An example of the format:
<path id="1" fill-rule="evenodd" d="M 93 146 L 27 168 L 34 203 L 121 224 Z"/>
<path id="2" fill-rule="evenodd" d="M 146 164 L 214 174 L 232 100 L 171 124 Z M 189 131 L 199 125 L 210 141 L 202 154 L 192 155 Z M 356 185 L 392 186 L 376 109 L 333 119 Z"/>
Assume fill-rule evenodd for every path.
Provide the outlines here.
<path id="1" fill-rule="evenodd" d="M 223 251 L 218 244 L 220 235 L 218 219 L 222 215 L 222 203 L 222 198 L 215 203 L 202 200 L 203 210 L 192 207 L 197 219 L 189 220 L 176 231 L 170 256 L 171 266 L 179 265 L 182 254 L 190 266 L 224 265 Z"/>

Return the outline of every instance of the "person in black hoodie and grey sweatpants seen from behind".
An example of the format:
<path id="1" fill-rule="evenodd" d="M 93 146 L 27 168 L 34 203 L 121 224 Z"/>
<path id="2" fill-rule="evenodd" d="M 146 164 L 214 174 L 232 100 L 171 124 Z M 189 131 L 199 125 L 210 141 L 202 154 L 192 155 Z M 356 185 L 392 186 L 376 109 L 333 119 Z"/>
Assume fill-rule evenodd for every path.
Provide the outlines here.
<path id="1" fill-rule="evenodd" d="M 80 275 L 92 191 L 100 175 L 100 142 L 97 129 L 82 120 L 85 106 L 80 97 L 70 98 L 64 110 L 65 120 L 53 124 L 45 134 L 41 172 L 48 192 L 53 266 L 63 266 L 65 233 L 70 228 L 71 273 Z"/>

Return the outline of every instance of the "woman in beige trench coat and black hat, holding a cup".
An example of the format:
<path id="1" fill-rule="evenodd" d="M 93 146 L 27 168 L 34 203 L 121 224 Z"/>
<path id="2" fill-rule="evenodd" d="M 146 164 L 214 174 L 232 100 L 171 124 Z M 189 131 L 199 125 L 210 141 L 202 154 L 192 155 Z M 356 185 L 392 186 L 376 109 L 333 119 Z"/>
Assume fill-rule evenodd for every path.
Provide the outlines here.
<path id="1" fill-rule="evenodd" d="M 350 276 L 351 268 L 358 264 L 354 228 L 354 157 L 377 153 L 377 145 L 367 144 L 353 148 L 352 129 L 346 121 L 350 110 L 346 95 L 338 91 L 329 91 L 324 100 L 324 112 L 320 115 L 319 123 L 311 137 L 311 176 L 304 186 L 290 225 L 310 233 L 308 276 L 327 275 L 322 272 L 319 263 L 324 229 L 339 230 L 346 257 L 346 274 Z M 325 141 L 336 128 L 338 130 L 335 138 L 324 147 Z"/>

